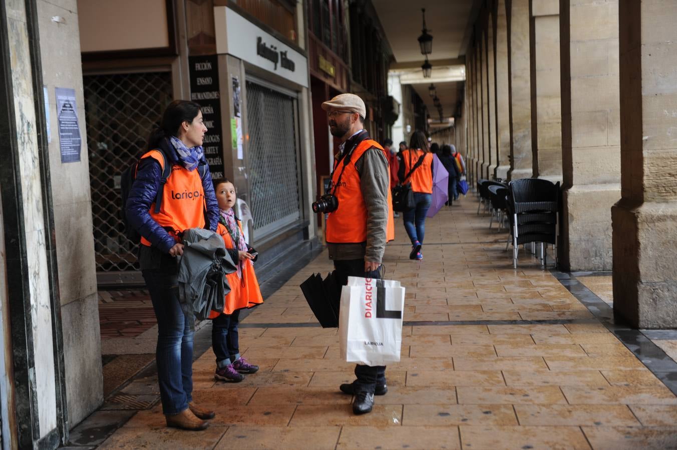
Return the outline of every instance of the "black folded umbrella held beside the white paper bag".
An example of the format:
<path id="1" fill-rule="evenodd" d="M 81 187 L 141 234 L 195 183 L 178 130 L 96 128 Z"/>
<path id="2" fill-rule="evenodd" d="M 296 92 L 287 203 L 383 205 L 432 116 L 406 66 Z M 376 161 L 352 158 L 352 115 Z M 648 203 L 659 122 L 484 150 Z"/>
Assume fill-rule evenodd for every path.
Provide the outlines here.
<path id="1" fill-rule="evenodd" d="M 312 274 L 301 283 L 301 291 L 322 328 L 339 326 L 341 286 L 336 283 L 333 272 L 325 280 L 320 274 Z"/>

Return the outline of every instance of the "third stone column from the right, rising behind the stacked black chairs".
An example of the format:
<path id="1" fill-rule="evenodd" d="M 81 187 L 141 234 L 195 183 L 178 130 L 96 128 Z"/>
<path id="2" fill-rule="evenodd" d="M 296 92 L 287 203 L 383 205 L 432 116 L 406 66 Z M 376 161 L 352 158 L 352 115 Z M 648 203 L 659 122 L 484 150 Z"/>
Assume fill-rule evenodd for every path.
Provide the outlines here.
<path id="1" fill-rule="evenodd" d="M 531 117 L 534 176 L 562 180 L 562 110 L 560 100 L 559 1 L 531 0 L 533 25 Z M 535 125 L 535 127 L 533 126 Z"/>

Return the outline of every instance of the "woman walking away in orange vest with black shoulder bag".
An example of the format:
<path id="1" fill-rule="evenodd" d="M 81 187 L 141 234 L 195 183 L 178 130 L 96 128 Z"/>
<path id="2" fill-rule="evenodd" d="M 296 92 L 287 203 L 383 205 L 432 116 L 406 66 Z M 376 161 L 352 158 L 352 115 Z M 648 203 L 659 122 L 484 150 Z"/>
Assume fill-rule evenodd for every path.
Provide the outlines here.
<path id="1" fill-rule="evenodd" d="M 418 168 L 406 178 L 419 159 L 421 163 Z M 404 229 L 412 241 L 409 259 L 420 261 L 423 259 L 421 248 L 425 235 L 425 215 L 433 203 L 433 153 L 428 150 L 428 143 L 422 131 L 416 130 L 412 134 L 409 149 L 402 152 L 402 162 L 397 176 L 403 184 L 411 182 L 416 204 L 403 214 Z"/>

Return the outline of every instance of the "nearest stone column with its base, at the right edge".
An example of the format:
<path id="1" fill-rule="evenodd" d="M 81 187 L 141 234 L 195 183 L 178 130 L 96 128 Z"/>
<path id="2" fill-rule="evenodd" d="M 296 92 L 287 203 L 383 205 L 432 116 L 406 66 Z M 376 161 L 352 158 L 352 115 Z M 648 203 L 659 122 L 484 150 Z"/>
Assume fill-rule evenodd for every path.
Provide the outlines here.
<path id="1" fill-rule="evenodd" d="M 677 3 L 620 1 L 621 200 L 613 220 L 613 311 L 677 327 Z"/>

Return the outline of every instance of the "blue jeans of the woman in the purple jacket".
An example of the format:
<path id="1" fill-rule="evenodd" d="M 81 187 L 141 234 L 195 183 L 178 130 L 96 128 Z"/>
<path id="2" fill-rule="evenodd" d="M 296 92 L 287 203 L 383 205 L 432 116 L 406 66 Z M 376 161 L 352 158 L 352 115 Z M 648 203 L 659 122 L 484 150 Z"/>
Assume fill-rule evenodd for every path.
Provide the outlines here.
<path id="1" fill-rule="evenodd" d="M 146 269 L 150 299 L 158 320 L 155 351 L 162 413 L 179 414 L 188 409 L 193 392 L 193 331 L 179 304 L 179 283 L 175 270 Z"/>

